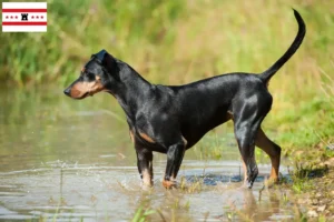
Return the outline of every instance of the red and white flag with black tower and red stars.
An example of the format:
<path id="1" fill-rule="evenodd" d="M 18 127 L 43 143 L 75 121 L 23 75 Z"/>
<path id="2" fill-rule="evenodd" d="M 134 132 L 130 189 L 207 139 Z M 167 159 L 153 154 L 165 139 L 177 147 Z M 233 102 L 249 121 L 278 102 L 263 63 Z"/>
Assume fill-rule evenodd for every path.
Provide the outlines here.
<path id="1" fill-rule="evenodd" d="M 46 32 L 47 2 L 2 2 L 2 32 Z"/>

